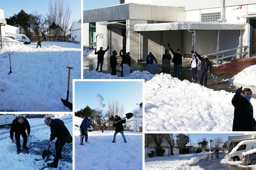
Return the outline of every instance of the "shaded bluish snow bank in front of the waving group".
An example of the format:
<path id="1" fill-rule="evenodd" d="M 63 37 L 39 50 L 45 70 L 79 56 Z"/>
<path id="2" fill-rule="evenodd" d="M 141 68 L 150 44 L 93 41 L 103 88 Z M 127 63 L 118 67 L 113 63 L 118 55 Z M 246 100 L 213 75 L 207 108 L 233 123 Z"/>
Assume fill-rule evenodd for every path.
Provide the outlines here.
<path id="1" fill-rule="evenodd" d="M 84 79 L 145 79 L 148 81 L 154 77 L 153 74 L 150 74 L 148 71 L 133 71 L 131 74 L 128 74 L 125 77 L 112 76 L 111 74 L 99 73 L 95 70 L 93 71 L 84 71 Z"/>

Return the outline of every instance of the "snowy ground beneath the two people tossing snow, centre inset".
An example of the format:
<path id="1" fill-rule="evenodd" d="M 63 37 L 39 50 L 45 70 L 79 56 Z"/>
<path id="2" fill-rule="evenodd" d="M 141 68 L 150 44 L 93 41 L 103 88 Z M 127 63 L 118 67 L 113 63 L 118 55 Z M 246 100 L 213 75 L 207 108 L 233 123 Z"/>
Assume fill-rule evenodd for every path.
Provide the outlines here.
<path id="1" fill-rule="evenodd" d="M 88 142 L 80 145 L 80 131 L 75 127 L 76 170 L 142 170 L 142 133 L 127 132 L 124 143 L 120 133 L 112 143 L 114 131 L 88 133 Z M 86 161 L 85 161 L 86 160 Z"/>

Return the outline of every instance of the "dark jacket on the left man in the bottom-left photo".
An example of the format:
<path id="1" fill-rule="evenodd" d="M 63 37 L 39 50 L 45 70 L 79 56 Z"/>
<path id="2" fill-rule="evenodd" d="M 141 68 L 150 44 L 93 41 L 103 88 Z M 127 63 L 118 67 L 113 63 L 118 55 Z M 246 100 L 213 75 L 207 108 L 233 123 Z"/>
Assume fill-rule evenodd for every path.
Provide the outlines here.
<path id="1" fill-rule="evenodd" d="M 10 130 L 10 137 L 13 139 L 13 134 L 15 133 L 26 133 L 26 130 L 28 131 L 28 135 L 30 134 L 30 125 L 29 121 L 27 119 L 24 119 L 24 122 L 20 124 L 18 122 L 18 119 L 14 119 L 12 121 L 11 130 Z"/>

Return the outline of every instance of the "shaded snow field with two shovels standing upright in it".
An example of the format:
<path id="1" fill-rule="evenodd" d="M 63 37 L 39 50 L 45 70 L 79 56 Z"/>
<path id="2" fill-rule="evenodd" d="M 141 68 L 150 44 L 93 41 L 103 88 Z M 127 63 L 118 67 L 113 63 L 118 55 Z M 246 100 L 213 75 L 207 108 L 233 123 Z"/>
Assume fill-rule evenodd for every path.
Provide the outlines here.
<path id="1" fill-rule="evenodd" d="M 67 95 L 67 66 L 72 79 L 81 79 L 81 46 L 71 42 L 42 42 L 42 48 L 4 44 L 0 51 L 0 111 L 70 111 L 61 102 Z M 12 73 L 9 75 L 9 55 Z"/>

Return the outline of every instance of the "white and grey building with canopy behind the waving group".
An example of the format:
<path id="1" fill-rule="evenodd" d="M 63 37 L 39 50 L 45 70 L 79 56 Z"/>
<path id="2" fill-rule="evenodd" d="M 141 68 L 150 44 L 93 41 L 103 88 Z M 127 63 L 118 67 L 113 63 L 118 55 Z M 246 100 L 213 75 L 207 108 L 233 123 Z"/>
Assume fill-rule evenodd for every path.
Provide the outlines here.
<path id="1" fill-rule="evenodd" d="M 125 0 L 84 11 L 84 46 L 130 51 L 135 61 L 149 52 L 161 60 L 167 43 L 208 54 L 211 61 L 256 55 L 256 0 Z M 227 52 L 224 52 L 227 51 Z"/>

